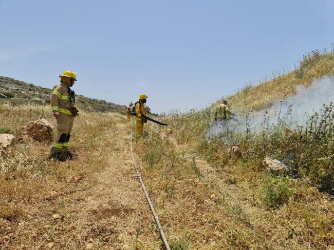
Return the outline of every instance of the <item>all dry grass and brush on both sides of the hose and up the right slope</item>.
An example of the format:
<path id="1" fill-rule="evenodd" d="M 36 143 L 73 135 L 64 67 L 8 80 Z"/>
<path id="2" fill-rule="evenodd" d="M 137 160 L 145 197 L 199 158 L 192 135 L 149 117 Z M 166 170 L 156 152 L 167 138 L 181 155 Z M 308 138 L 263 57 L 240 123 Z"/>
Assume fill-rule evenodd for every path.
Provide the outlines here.
<path id="1" fill-rule="evenodd" d="M 333 53 L 314 51 L 299 68 L 247 86 L 230 103 L 245 112 L 245 103 L 259 110 L 331 73 Z M 0 157 L 0 237 L 9 237 L 0 238 L 0 246 L 162 249 L 128 152 L 134 121 L 83 111 L 72 140 L 77 159 L 54 162 L 47 159 L 49 144 L 19 132 L 40 117 L 54 124 L 44 106 L 0 109 L 0 127 L 16 136 L 15 146 Z M 332 103 L 296 130 L 278 119 L 256 133 L 245 127 L 212 138 L 211 108 L 159 119 L 169 126 L 146 123 L 134 148 L 172 249 L 334 247 Z M 237 154 L 230 150 L 235 145 Z M 281 160 L 288 170 L 271 173 L 265 157 Z"/>

